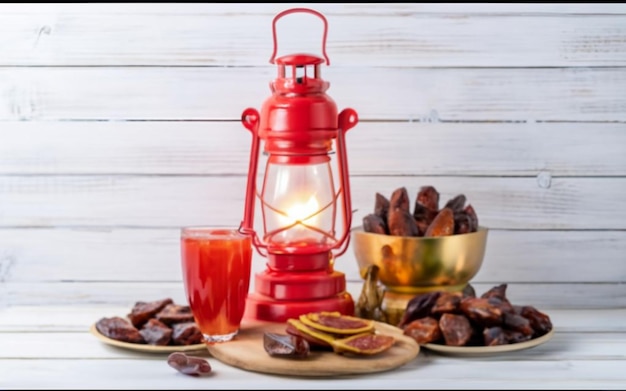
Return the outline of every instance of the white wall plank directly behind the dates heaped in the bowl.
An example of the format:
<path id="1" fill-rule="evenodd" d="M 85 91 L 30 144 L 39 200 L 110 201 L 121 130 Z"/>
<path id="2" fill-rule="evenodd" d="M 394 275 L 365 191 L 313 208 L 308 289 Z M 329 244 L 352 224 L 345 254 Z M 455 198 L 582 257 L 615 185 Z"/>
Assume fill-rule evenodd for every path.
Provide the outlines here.
<path id="1" fill-rule="evenodd" d="M 2 227 L 239 226 L 244 176 L 0 176 Z M 353 221 L 376 192 L 432 185 L 442 202 L 466 195 L 491 229 L 623 230 L 626 178 L 352 177 Z M 602 189 L 599 191 L 598 189 Z M 591 201 L 593 200 L 593 202 Z M 149 202 L 148 202 L 149 201 Z M 260 222 L 260 208 L 257 208 Z M 616 211 L 618 211 L 616 213 Z"/>

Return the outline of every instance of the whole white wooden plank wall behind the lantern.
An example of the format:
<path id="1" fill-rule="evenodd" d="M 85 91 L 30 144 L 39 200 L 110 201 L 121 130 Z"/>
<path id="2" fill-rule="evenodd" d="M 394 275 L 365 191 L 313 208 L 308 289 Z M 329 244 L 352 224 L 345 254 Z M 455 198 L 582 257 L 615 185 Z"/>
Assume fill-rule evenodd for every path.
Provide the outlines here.
<path id="1" fill-rule="evenodd" d="M 292 4 L 0 5 L 0 306 L 182 299 L 178 227 L 237 225 L 246 107 Z M 374 194 L 464 193 L 491 229 L 478 290 L 626 307 L 625 4 L 314 4 Z M 279 55 L 321 23 L 278 24 Z M 337 261 L 358 292 L 349 251 Z M 264 268 L 255 259 L 254 270 Z"/>

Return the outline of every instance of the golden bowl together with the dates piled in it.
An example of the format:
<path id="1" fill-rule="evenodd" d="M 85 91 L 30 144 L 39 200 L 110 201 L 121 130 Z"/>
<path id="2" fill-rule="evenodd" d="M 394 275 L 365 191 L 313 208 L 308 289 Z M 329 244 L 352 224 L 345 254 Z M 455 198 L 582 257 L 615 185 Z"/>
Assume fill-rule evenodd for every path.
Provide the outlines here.
<path id="1" fill-rule="evenodd" d="M 413 204 L 405 187 L 390 199 L 376 193 L 373 213 L 352 230 L 351 246 L 364 280 L 375 265 L 390 293 L 458 291 L 469 283 L 482 266 L 488 229 L 479 226 L 464 194 L 441 204 L 439 199 L 433 186 L 421 187 Z"/>

